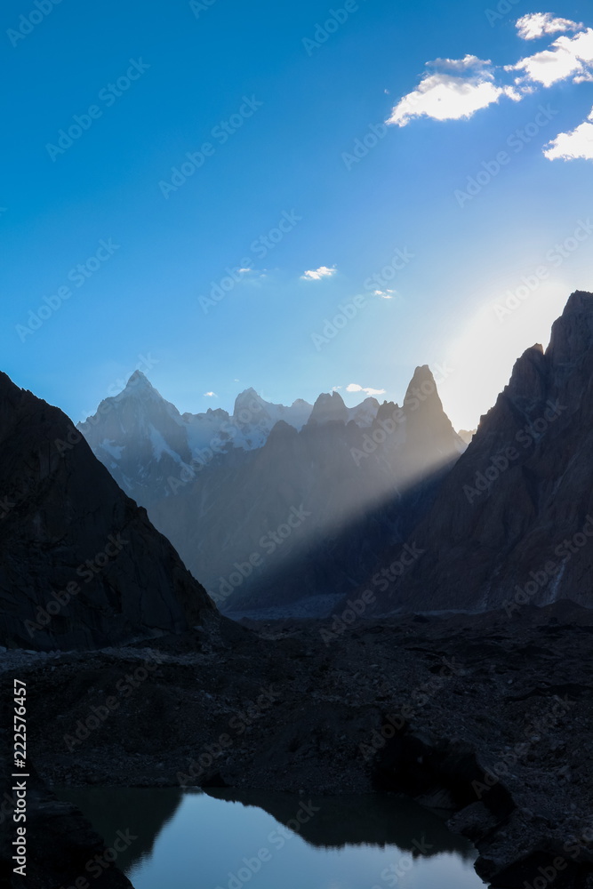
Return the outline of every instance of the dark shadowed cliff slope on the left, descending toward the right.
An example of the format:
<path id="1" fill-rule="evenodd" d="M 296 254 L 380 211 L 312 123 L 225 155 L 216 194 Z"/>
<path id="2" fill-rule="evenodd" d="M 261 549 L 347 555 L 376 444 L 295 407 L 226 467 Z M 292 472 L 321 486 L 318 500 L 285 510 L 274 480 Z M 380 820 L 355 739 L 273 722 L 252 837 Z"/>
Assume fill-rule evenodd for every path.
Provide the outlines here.
<path id="1" fill-rule="evenodd" d="M 0 644 L 123 643 L 216 611 L 55 407 L 0 374 Z"/>

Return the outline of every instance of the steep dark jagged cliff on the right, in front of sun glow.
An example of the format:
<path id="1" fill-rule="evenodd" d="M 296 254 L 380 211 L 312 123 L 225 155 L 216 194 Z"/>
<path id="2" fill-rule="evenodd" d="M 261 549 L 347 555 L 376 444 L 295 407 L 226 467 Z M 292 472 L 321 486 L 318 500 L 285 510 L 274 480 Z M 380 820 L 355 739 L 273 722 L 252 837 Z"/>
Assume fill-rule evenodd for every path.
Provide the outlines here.
<path id="1" fill-rule="evenodd" d="M 424 554 L 384 610 L 593 605 L 593 294 L 518 359 L 410 539 Z"/>

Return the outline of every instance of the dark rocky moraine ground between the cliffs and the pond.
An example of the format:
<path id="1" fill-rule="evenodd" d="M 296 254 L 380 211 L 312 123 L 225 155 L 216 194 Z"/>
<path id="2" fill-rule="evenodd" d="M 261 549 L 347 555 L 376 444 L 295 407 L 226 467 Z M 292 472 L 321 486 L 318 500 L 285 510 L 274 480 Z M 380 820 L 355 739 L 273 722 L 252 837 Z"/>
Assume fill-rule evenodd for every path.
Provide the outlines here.
<path id="1" fill-rule="evenodd" d="M 2 670 L 28 684 L 49 787 L 402 792 L 477 845 L 486 882 L 576 889 L 593 886 L 592 634 L 568 603 L 343 631 L 220 621 L 150 647 L 8 652 Z"/>

